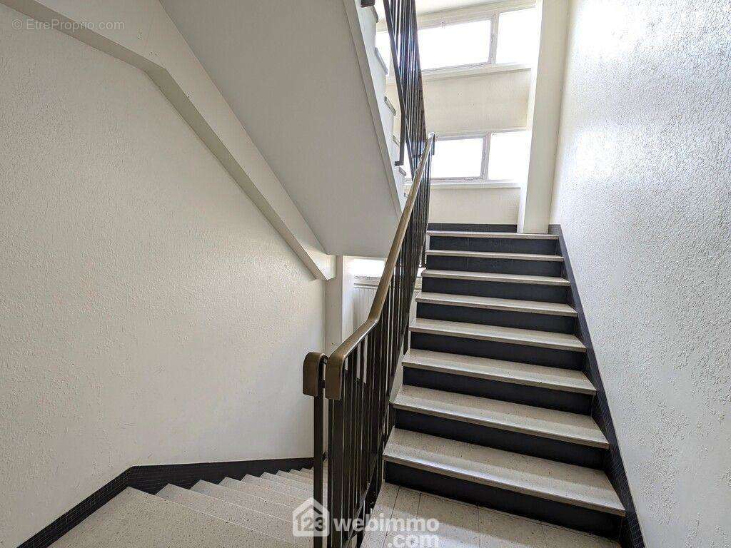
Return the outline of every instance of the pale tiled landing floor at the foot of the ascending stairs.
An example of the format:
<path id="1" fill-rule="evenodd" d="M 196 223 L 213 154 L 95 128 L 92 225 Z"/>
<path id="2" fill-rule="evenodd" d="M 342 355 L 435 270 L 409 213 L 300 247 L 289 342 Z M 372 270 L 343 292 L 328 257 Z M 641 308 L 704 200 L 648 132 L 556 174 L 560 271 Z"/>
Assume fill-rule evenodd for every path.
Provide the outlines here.
<path id="1" fill-rule="evenodd" d="M 404 534 L 371 531 L 363 548 L 618 548 L 616 542 L 471 504 L 384 484 L 374 517 L 439 520 L 437 542 L 408 544 Z M 401 535 L 401 536 L 398 536 Z M 412 539 L 413 540 L 413 539 Z M 405 542 L 406 541 L 406 542 Z"/>

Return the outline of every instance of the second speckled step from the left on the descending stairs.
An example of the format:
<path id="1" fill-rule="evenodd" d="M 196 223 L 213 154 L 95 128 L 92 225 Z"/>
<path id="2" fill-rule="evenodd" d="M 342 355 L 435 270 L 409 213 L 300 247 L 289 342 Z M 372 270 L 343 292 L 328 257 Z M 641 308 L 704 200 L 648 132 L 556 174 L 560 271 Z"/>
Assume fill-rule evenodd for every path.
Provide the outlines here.
<path id="1" fill-rule="evenodd" d="M 166 501 L 181 504 L 203 514 L 217 517 L 235 525 L 268 534 L 276 539 L 287 541 L 290 544 L 308 546 L 306 538 L 292 535 L 292 520 L 281 520 L 260 511 L 238 506 L 230 502 L 221 501 L 220 498 L 202 495 L 200 492 L 190 491 L 176 485 L 167 484 L 157 493 L 157 496 Z"/>

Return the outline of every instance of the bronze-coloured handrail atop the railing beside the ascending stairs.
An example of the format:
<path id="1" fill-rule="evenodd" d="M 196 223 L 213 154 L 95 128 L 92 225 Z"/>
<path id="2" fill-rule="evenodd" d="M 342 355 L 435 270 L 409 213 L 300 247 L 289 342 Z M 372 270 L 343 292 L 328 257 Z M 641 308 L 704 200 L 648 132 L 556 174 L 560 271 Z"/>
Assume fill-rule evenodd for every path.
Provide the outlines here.
<path id="1" fill-rule="evenodd" d="M 398 260 L 398 254 L 401 251 L 401 244 L 404 243 L 404 237 L 406 236 L 406 229 L 409 227 L 409 218 L 411 218 L 412 210 L 414 209 L 414 203 L 416 202 L 419 190 L 421 189 L 421 183 L 424 178 L 424 171 L 427 166 L 429 155 L 431 154 L 434 146 L 434 134 L 430 133 L 426 140 L 424 151 L 421 154 L 419 160 L 419 166 L 414 175 L 411 191 L 409 192 L 409 198 L 406 200 L 404 206 L 404 212 L 401 213 L 401 220 L 398 221 L 398 227 L 396 228 L 396 234 L 393 237 L 393 243 L 391 243 L 391 249 L 388 252 L 388 258 L 383 270 L 381 281 L 378 284 L 376 290 L 376 297 L 374 297 L 373 305 L 371 305 L 371 312 L 368 313 L 368 319 L 353 332 L 338 348 L 330 354 L 330 359 L 327 361 L 327 368 L 325 369 L 325 397 L 329 400 L 339 400 L 341 397 L 342 377 L 343 368 L 346 358 L 355 349 L 363 338 L 368 335 L 381 317 L 383 307 L 386 303 L 386 297 L 388 289 L 393 279 L 393 271 L 395 269 L 396 261 Z"/>

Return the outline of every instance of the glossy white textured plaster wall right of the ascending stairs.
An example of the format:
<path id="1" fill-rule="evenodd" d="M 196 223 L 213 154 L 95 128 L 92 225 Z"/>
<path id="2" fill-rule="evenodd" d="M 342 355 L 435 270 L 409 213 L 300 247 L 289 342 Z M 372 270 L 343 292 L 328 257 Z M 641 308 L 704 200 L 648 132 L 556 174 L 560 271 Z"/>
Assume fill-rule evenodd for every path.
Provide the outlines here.
<path id="1" fill-rule="evenodd" d="M 650 547 L 731 546 L 731 1 L 575 0 L 552 222 Z"/>

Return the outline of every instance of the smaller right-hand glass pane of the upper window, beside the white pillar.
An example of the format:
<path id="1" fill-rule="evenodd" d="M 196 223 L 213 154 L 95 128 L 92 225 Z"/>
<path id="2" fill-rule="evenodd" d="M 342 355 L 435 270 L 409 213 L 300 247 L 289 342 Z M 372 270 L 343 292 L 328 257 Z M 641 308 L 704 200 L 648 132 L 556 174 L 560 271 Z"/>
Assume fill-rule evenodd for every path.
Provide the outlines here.
<path id="1" fill-rule="evenodd" d="M 500 14 L 497 63 L 534 64 L 538 53 L 538 21 L 535 8 Z"/>

